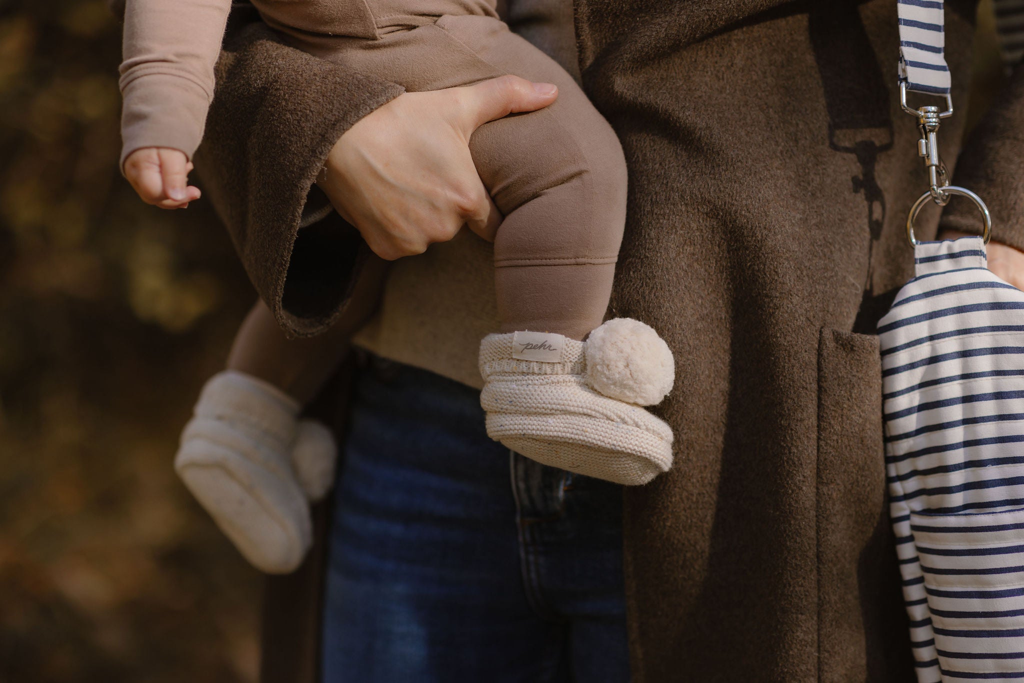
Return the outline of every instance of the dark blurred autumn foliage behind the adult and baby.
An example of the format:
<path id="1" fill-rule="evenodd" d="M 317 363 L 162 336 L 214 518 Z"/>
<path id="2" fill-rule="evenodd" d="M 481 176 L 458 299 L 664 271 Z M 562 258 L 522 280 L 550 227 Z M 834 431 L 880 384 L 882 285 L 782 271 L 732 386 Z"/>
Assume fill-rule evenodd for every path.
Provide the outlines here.
<path id="1" fill-rule="evenodd" d="M 0 3 L 0 681 L 254 681 L 259 577 L 171 469 L 253 294 L 208 203 L 121 178 L 119 33 Z"/>

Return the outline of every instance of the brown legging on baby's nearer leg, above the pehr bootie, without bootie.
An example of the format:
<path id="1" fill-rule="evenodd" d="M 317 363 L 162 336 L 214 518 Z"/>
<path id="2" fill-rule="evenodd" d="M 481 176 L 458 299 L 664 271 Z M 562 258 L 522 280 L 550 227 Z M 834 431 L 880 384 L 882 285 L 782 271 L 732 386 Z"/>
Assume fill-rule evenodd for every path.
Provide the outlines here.
<path id="1" fill-rule="evenodd" d="M 470 140 L 505 216 L 495 240 L 502 332 L 582 340 L 601 325 L 626 222 L 626 161 L 611 126 L 554 61 L 485 17 L 445 31 L 489 65 L 555 82 L 551 106 L 484 124 Z"/>

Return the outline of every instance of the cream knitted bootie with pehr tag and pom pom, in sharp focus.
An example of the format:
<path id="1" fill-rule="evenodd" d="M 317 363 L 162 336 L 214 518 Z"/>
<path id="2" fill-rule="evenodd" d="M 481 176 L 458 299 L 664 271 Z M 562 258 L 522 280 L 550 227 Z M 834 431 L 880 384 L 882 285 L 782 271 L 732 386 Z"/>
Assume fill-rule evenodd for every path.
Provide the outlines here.
<path id="1" fill-rule="evenodd" d="M 487 435 L 527 458 L 623 484 L 672 466 L 672 429 L 640 408 L 672 390 L 672 351 L 639 321 L 608 321 L 586 342 L 488 335 L 480 375 Z"/>

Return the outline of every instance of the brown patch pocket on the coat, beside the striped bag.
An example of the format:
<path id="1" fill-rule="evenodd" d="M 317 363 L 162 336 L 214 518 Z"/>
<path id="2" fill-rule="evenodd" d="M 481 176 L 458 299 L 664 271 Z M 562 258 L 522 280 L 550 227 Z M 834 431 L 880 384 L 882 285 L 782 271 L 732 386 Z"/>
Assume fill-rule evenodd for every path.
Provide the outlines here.
<path id="1" fill-rule="evenodd" d="M 886 507 L 879 339 L 818 342 L 818 679 L 913 680 Z"/>

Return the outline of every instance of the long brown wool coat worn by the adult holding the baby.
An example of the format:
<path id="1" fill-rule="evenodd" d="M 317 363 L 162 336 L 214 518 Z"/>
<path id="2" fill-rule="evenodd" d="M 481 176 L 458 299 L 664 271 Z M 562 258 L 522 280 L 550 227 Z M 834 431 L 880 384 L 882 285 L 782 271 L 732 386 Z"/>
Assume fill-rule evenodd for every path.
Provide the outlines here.
<path id="1" fill-rule="evenodd" d="M 585 89 L 630 168 L 612 312 L 664 335 L 686 388 L 657 409 L 675 468 L 626 496 L 634 680 L 912 680 L 872 336 L 911 272 L 902 223 L 925 189 L 894 87 L 896 3 L 574 8 Z M 947 2 L 962 105 L 974 12 Z M 315 333 L 356 242 L 335 224 L 293 244 L 306 193 L 333 142 L 400 90 L 247 20 L 234 13 L 197 165 L 261 296 L 287 329 Z M 1017 247 L 1022 100 L 1018 79 L 956 173 Z M 963 122 L 943 124 L 949 163 Z M 315 604 L 316 566 L 271 582 L 265 681 L 313 676 L 314 611 L 301 607 Z"/>

